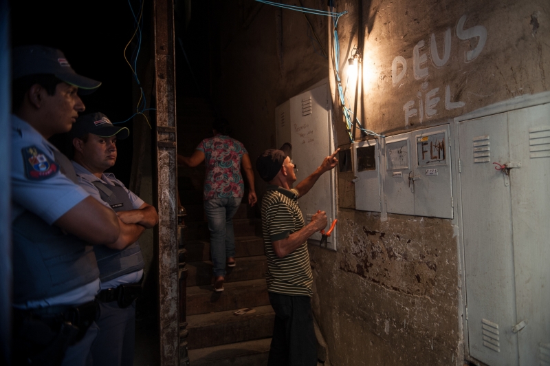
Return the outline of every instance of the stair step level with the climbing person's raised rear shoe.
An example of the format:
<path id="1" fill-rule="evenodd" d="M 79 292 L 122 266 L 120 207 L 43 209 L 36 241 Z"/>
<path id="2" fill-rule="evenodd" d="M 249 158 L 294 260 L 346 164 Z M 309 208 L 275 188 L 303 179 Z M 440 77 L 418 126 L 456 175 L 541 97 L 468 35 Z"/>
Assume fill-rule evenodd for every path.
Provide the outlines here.
<path id="1" fill-rule="evenodd" d="M 208 230 L 208 228 L 206 228 Z M 209 261 L 210 243 L 203 240 L 190 240 L 186 245 L 187 261 Z M 263 239 L 261 237 L 236 237 L 235 238 L 235 257 L 250 257 L 263 255 Z M 236 267 L 235 267 L 236 268 Z"/>

